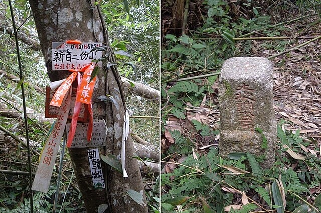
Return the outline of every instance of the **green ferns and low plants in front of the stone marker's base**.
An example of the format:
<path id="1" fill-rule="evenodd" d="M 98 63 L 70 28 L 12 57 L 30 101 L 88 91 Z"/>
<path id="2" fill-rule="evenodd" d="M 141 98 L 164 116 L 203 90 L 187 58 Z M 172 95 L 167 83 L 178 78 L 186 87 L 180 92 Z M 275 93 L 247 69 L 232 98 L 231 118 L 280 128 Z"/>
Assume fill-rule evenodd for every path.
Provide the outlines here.
<path id="1" fill-rule="evenodd" d="M 250 153 L 222 158 L 217 147 L 193 153 L 190 144 L 184 161 L 162 174 L 162 212 L 319 212 L 321 159 L 306 151 L 315 144 L 305 142 L 299 131 L 282 130 L 283 123 L 270 169 L 263 169 L 264 161 Z M 172 136 L 185 140 L 178 132 Z M 183 157 L 172 151 L 168 154 Z M 228 210 L 231 205 L 235 209 Z"/>

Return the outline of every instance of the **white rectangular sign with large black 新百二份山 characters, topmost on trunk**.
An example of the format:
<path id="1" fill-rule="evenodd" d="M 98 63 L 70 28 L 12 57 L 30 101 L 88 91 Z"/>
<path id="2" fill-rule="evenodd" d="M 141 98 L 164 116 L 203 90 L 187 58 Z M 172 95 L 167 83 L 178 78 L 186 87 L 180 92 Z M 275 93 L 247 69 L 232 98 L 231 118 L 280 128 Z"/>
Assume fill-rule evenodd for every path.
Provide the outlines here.
<path id="1" fill-rule="evenodd" d="M 101 51 L 90 52 L 102 43 L 52 43 L 52 70 L 80 69 L 102 57 Z"/>

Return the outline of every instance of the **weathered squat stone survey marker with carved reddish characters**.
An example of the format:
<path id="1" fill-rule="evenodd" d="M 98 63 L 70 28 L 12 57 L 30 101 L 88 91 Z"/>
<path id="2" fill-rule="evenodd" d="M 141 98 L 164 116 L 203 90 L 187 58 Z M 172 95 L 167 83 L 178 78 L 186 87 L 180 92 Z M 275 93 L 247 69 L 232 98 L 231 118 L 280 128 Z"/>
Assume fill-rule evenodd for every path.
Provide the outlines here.
<path id="1" fill-rule="evenodd" d="M 223 64 L 219 79 L 220 154 L 250 152 L 274 163 L 276 122 L 273 110 L 273 64 L 261 57 L 234 57 Z M 267 139 L 264 147 L 260 128 Z"/>

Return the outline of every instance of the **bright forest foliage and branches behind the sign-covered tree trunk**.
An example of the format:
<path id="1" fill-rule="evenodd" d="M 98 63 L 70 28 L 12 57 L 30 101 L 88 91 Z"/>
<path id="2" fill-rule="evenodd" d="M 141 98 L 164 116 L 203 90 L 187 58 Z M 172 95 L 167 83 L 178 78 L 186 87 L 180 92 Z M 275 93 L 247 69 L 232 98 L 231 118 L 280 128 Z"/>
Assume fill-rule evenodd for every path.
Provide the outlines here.
<path id="1" fill-rule="evenodd" d="M 114 51 L 125 51 L 131 56 L 116 55 L 120 75 L 135 83 L 159 90 L 159 1 L 99 1 L 105 17 L 111 46 Z M 13 0 L 18 30 L 23 82 L 19 79 L 14 32 L 7 1 L 0 9 L 0 211 L 29 212 L 28 160 L 22 114 L 20 83 L 24 83 L 28 112 L 29 137 L 32 149 L 32 172 L 36 172 L 38 156 L 53 120 L 44 118 L 45 86 L 49 85 L 45 62 L 41 53 L 29 3 Z M 85 41 L 83 41 L 85 42 Z M 139 92 L 128 90 L 126 105 L 133 112 L 130 119 L 131 135 L 137 147 L 159 149 L 159 98 L 148 99 Z M 139 143 L 139 144 L 138 144 Z M 143 155 L 143 153 L 142 153 Z M 140 156 L 143 158 L 143 156 Z M 143 158 L 141 171 L 150 211 L 157 212 L 159 198 L 159 171 L 154 166 L 159 154 Z M 48 193 L 34 194 L 36 212 L 49 212 L 54 207 L 56 187 L 60 188 L 55 203 L 57 212 L 84 210 L 81 194 L 73 175 L 68 153 L 62 168 L 62 181 L 57 186 L 58 156 Z M 149 164 L 148 164 L 149 163 Z M 151 166 L 147 166 L 151 165 Z M 158 182 L 158 183 L 157 183 Z"/>

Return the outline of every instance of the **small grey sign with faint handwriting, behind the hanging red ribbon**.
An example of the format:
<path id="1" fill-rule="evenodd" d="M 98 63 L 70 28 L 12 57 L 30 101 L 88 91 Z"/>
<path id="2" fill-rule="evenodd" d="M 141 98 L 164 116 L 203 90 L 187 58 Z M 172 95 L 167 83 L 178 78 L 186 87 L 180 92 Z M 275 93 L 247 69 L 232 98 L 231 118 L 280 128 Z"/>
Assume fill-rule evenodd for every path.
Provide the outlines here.
<path id="1" fill-rule="evenodd" d="M 70 130 L 70 123 L 66 125 L 67 134 Z M 104 122 L 94 122 L 91 141 L 87 141 L 88 123 L 77 123 L 75 136 L 71 148 L 103 147 L 106 146 L 106 124 Z"/>

